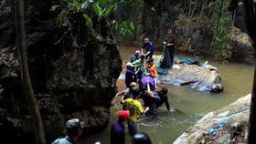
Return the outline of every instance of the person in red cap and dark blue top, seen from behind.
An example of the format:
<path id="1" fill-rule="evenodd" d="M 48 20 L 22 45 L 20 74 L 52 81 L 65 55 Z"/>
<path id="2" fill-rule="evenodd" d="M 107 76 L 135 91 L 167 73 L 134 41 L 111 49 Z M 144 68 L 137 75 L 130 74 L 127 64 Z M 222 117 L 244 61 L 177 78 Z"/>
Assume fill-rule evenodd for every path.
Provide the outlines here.
<path id="1" fill-rule="evenodd" d="M 128 110 L 120 110 L 118 112 L 118 120 L 112 123 L 111 129 L 111 144 L 124 144 L 125 131 L 123 122 L 130 116 Z"/>

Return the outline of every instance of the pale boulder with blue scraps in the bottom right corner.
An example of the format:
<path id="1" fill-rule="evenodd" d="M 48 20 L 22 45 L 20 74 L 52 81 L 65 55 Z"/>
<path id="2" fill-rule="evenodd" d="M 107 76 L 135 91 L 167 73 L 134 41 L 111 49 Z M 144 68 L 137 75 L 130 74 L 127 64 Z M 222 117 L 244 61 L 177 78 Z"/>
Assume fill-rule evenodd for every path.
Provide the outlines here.
<path id="1" fill-rule="evenodd" d="M 174 144 L 185 143 L 246 143 L 251 94 L 224 108 L 209 112 L 188 128 Z"/>

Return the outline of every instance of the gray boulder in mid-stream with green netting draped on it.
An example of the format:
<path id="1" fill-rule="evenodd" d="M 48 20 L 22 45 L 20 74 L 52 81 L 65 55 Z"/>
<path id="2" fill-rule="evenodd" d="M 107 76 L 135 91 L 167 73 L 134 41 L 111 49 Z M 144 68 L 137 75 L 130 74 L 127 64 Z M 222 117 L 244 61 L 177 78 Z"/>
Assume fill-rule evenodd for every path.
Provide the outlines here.
<path id="1" fill-rule="evenodd" d="M 215 67 L 205 65 L 179 65 L 180 68 L 172 68 L 166 76 L 159 76 L 158 82 L 194 88 L 198 91 L 218 93 L 223 91 L 220 74 Z"/>

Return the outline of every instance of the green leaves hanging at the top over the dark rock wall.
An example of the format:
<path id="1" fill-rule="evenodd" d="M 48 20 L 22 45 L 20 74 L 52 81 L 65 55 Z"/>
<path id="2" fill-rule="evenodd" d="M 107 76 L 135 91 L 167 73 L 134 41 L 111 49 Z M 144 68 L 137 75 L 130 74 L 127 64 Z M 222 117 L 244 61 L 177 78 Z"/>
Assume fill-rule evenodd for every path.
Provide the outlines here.
<path id="1" fill-rule="evenodd" d="M 51 11 L 59 11 L 57 23 L 60 26 L 70 26 L 70 14 L 82 13 L 85 18 L 85 26 L 91 31 L 91 36 L 96 36 L 96 31 L 93 29 L 92 16 L 97 15 L 99 19 L 103 18 L 110 21 L 110 16 L 119 7 L 122 1 L 112 0 L 73 0 L 60 2 L 59 5 L 53 5 Z M 132 35 L 135 29 L 133 22 L 122 21 L 117 22 L 112 20 L 109 25 L 114 29 L 119 29 L 123 36 Z"/>

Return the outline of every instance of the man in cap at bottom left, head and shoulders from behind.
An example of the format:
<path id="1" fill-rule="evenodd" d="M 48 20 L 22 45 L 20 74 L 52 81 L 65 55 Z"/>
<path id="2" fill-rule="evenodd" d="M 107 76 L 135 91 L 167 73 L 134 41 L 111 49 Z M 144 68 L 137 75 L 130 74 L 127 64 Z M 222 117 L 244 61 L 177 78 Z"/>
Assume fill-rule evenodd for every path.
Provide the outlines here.
<path id="1" fill-rule="evenodd" d="M 84 122 L 80 121 L 79 118 L 69 119 L 66 122 L 65 138 L 56 139 L 51 144 L 76 144 L 84 127 Z"/>

